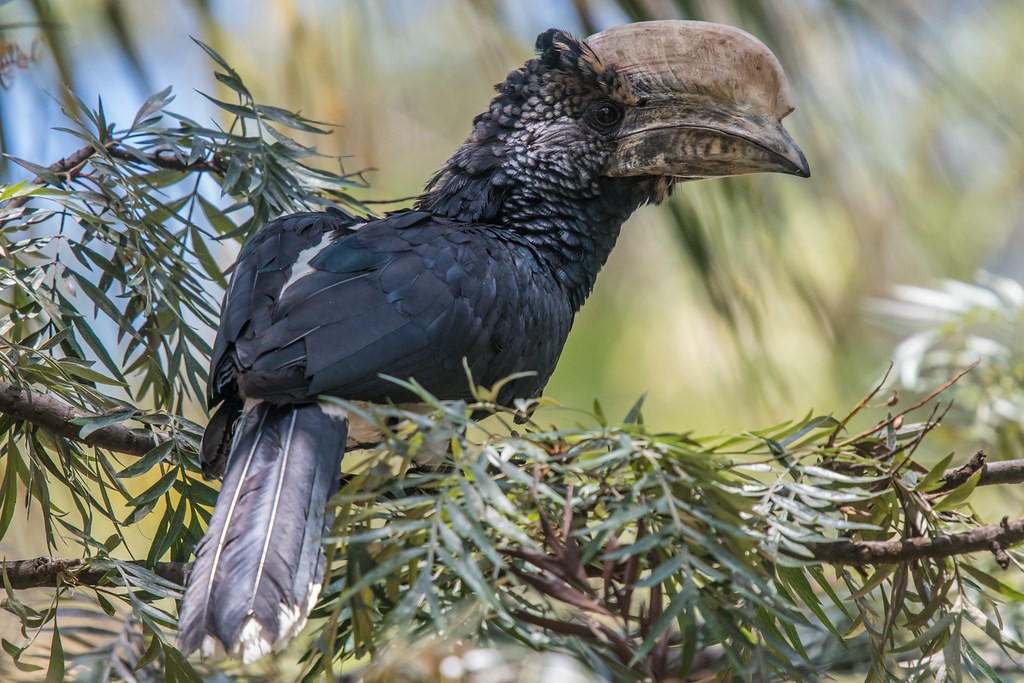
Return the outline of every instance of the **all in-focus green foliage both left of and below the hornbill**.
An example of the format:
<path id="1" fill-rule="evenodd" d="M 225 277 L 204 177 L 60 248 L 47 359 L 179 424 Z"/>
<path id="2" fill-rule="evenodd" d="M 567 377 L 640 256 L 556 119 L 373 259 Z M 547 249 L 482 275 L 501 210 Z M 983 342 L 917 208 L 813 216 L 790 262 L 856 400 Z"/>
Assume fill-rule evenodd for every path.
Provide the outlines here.
<path id="1" fill-rule="evenodd" d="M 3 607 L 23 637 L 3 646 L 26 676 L 313 679 L 381 643 L 431 636 L 568 653 L 616 680 L 700 668 L 758 680 L 829 669 L 999 680 L 999 653 L 1013 661 L 1024 652 L 1024 596 L 989 571 L 994 560 L 818 559 L 851 541 L 981 523 L 971 507 L 980 472 L 945 486 L 952 456 L 919 462 L 934 413 L 911 424 L 883 404 L 851 435 L 862 404 L 843 420 L 698 438 L 652 432 L 639 404 L 621 422 L 599 405 L 542 407 L 544 419 L 578 424 L 549 428 L 537 417 L 516 426 L 536 405 L 510 414 L 481 387 L 473 404 L 420 391 L 429 415 L 365 415 L 388 439 L 346 464 L 310 637 L 248 671 L 184 660 L 173 643 L 180 589 L 155 563 L 188 558 L 214 498 L 197 474 L 200 429 L 180 414 L 204 381 L 206 328 L 224 282 L 217 243 L 278 213 L 359 208 L 348 195 L 357 179 L 314 170 L 306 161 L 315 152 L 288 137 L 322 125 L 256 103 L 210 52 L 237 95 L 215 100 L 225 128 L 169 113 L 169 91 L 124 130 L 101 104 L 80 102 L 68 131 L 84 143 L 81 156 L 53 167 L 19 161 L 38 179 L 0 187 L 0 379 L 95 415 L 79 421 L 80 438 L 128 424 L 158 443 L 126 465 L 0 418 L 0 533 L 24 498 L 38 506 L 51 552 L 110 570 L 98 586 L 68 575 L 45 602 L 4 578 Z M 479 423 L 481 412 L 496 417 Z M 1019 571 L 1019 551 L 998 550 Z M 128 561 L 143 556 L 150 568 Z"/>

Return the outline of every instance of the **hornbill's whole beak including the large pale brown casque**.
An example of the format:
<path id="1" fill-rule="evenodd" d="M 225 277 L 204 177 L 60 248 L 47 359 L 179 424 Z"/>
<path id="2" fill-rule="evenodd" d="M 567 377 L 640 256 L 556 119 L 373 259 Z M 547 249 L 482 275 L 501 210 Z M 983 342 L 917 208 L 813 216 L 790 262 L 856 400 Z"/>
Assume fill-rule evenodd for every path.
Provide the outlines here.
<path id="1" fill-rule="evenodd" d="M 705 22 L 644 22 L 587 44 L 632 96 L 606 175 L 810 175 L 781 123 L 793 111 L 785 74 L 754 36 Z"/>

